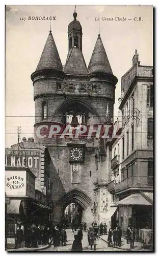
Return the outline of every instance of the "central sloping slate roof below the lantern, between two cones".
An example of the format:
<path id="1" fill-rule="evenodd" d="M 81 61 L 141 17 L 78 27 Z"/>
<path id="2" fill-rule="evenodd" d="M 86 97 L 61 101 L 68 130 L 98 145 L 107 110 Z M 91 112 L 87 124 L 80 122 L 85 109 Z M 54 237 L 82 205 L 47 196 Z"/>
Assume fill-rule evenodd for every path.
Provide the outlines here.
<path id="1" fill-rule="evenodd" d="M 64 67 L 66 74 L 88 75 L 85 59 L 79 48 L 71 48 Z"/>

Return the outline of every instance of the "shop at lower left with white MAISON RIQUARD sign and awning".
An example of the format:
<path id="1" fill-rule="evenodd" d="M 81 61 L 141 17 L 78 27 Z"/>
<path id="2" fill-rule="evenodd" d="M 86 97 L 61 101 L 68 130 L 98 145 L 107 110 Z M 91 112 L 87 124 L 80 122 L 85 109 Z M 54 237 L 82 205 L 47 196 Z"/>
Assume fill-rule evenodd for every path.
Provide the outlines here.
<path id="1" fill-rule="evenodd" d="M 46 196 L 41 192 L 41 200 L 36 200 L 35 175 L 27 167 L 6 166 L 6 246 L 15 247 L 16 230 L 21 226 L 23 233 L 27 225 L 44 224 L 52 209 L 44 205 Z M 24 238 L 23 238 L 24 241 Z M 21 246 L 24 246 L 24 242 Z"/>

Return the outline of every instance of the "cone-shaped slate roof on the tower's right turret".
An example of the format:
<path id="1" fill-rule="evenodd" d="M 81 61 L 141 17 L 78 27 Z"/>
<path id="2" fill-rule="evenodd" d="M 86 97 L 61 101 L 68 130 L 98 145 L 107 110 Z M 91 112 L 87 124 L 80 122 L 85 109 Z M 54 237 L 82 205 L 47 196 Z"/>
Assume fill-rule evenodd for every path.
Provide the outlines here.
<path id="1" fill-rule="evenodd" d="M 103 47 L 100 35 L 96 40 L 96 44 L 89 62 L 88 70 L 90 73 L 108 73 L 113 74 L 107 53 Z"/>

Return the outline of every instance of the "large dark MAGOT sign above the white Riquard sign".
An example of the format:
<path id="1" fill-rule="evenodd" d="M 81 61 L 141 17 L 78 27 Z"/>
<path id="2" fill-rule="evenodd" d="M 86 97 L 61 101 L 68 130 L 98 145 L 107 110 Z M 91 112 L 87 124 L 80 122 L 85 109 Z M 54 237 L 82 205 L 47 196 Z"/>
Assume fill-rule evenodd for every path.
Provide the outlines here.
<path id="1" fill-rule="evenodd" d="M 6 166 L 26 166 L 39 178 L 40 172 L 40 150 L 12 150 L 6 148 Z"/>

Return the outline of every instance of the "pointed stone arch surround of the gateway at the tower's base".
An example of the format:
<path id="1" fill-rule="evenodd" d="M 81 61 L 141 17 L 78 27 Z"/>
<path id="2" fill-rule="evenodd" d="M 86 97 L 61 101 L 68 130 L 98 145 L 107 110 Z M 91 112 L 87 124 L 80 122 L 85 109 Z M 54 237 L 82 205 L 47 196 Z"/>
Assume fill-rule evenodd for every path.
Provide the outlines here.
<path id="1" fill-rule="evenodd" d="M 58 223 L 61 221 L 64 210 L 70 203 L 77 203 L 82 206 L 82 222 L 86 222 L 88 225 L 91 225 L 94 218 L 91 212 L 92 200 L 84 191 L 77 188 L 69 190 L 59 199 L 54 207 L 54 222 Z"/>

